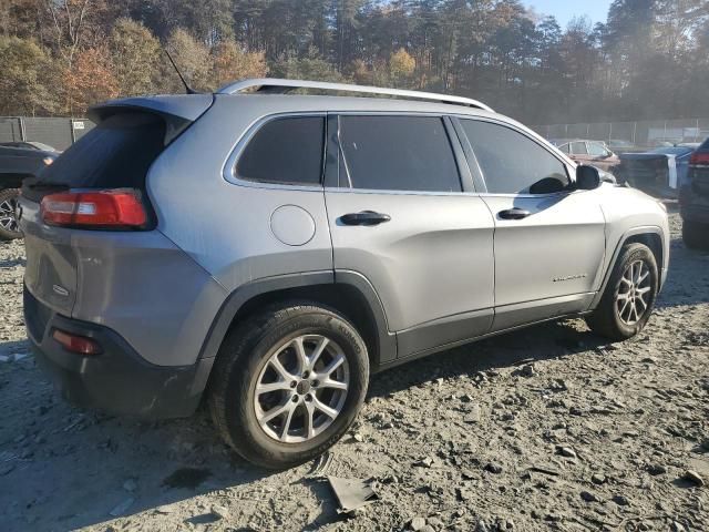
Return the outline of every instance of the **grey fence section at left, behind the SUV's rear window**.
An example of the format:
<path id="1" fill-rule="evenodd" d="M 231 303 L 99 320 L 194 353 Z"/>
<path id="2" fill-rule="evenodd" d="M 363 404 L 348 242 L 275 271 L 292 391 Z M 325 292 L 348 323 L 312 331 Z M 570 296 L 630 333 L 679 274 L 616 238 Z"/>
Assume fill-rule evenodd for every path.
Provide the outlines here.
<path id="1" fill-rule="evenodd" d="M 0 116 L 0 143 L 41 142 L 63 151 L 94 125 L 89 119 Z"/>

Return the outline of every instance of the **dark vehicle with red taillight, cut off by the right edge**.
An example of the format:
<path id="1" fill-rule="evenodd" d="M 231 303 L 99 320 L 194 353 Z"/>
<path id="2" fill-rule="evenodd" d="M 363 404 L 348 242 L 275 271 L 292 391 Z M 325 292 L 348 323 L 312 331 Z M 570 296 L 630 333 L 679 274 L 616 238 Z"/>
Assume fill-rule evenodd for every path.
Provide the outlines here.
<path id="1" fill-rule="evenodd" d="M 687 247 L 709 249 L 709 139 L 689 157 L 679 186 L 679 214 Z"/>

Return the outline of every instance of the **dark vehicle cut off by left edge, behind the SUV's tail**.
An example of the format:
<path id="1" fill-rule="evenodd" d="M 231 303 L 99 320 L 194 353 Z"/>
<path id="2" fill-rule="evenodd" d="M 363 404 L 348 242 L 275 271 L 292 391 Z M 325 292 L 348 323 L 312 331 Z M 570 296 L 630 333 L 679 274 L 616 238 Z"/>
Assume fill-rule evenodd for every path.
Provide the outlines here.
<path id="1" fill-rule="evenodd" d="M 16 217 L 22 181 L 52 164 L 60 153 L 40 142 L 0 143 L 0 238 L 22 236 Z"/>

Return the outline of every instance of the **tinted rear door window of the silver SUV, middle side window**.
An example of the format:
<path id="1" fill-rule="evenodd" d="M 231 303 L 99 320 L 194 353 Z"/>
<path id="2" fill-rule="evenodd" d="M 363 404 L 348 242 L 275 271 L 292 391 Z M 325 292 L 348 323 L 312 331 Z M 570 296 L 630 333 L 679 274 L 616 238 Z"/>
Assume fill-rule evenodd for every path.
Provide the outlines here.
<path id="1" fill-rule="evenodd" d="M 340 116 L 340 183 L 353 188 L 462 191 L 441 117 Z"/>

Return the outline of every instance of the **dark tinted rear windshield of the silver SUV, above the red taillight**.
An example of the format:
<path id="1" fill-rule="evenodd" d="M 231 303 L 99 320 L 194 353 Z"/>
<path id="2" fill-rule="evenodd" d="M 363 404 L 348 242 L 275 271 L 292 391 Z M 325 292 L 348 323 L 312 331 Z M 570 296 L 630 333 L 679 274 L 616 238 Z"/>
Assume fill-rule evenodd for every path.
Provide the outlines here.
<path id="1" fill-rule="evenodd" d="M 165 122 L 150 113 L 107 117 L 39 176 L 72 188 L 143 188 L 145 175 L 165 147 Z"/>

